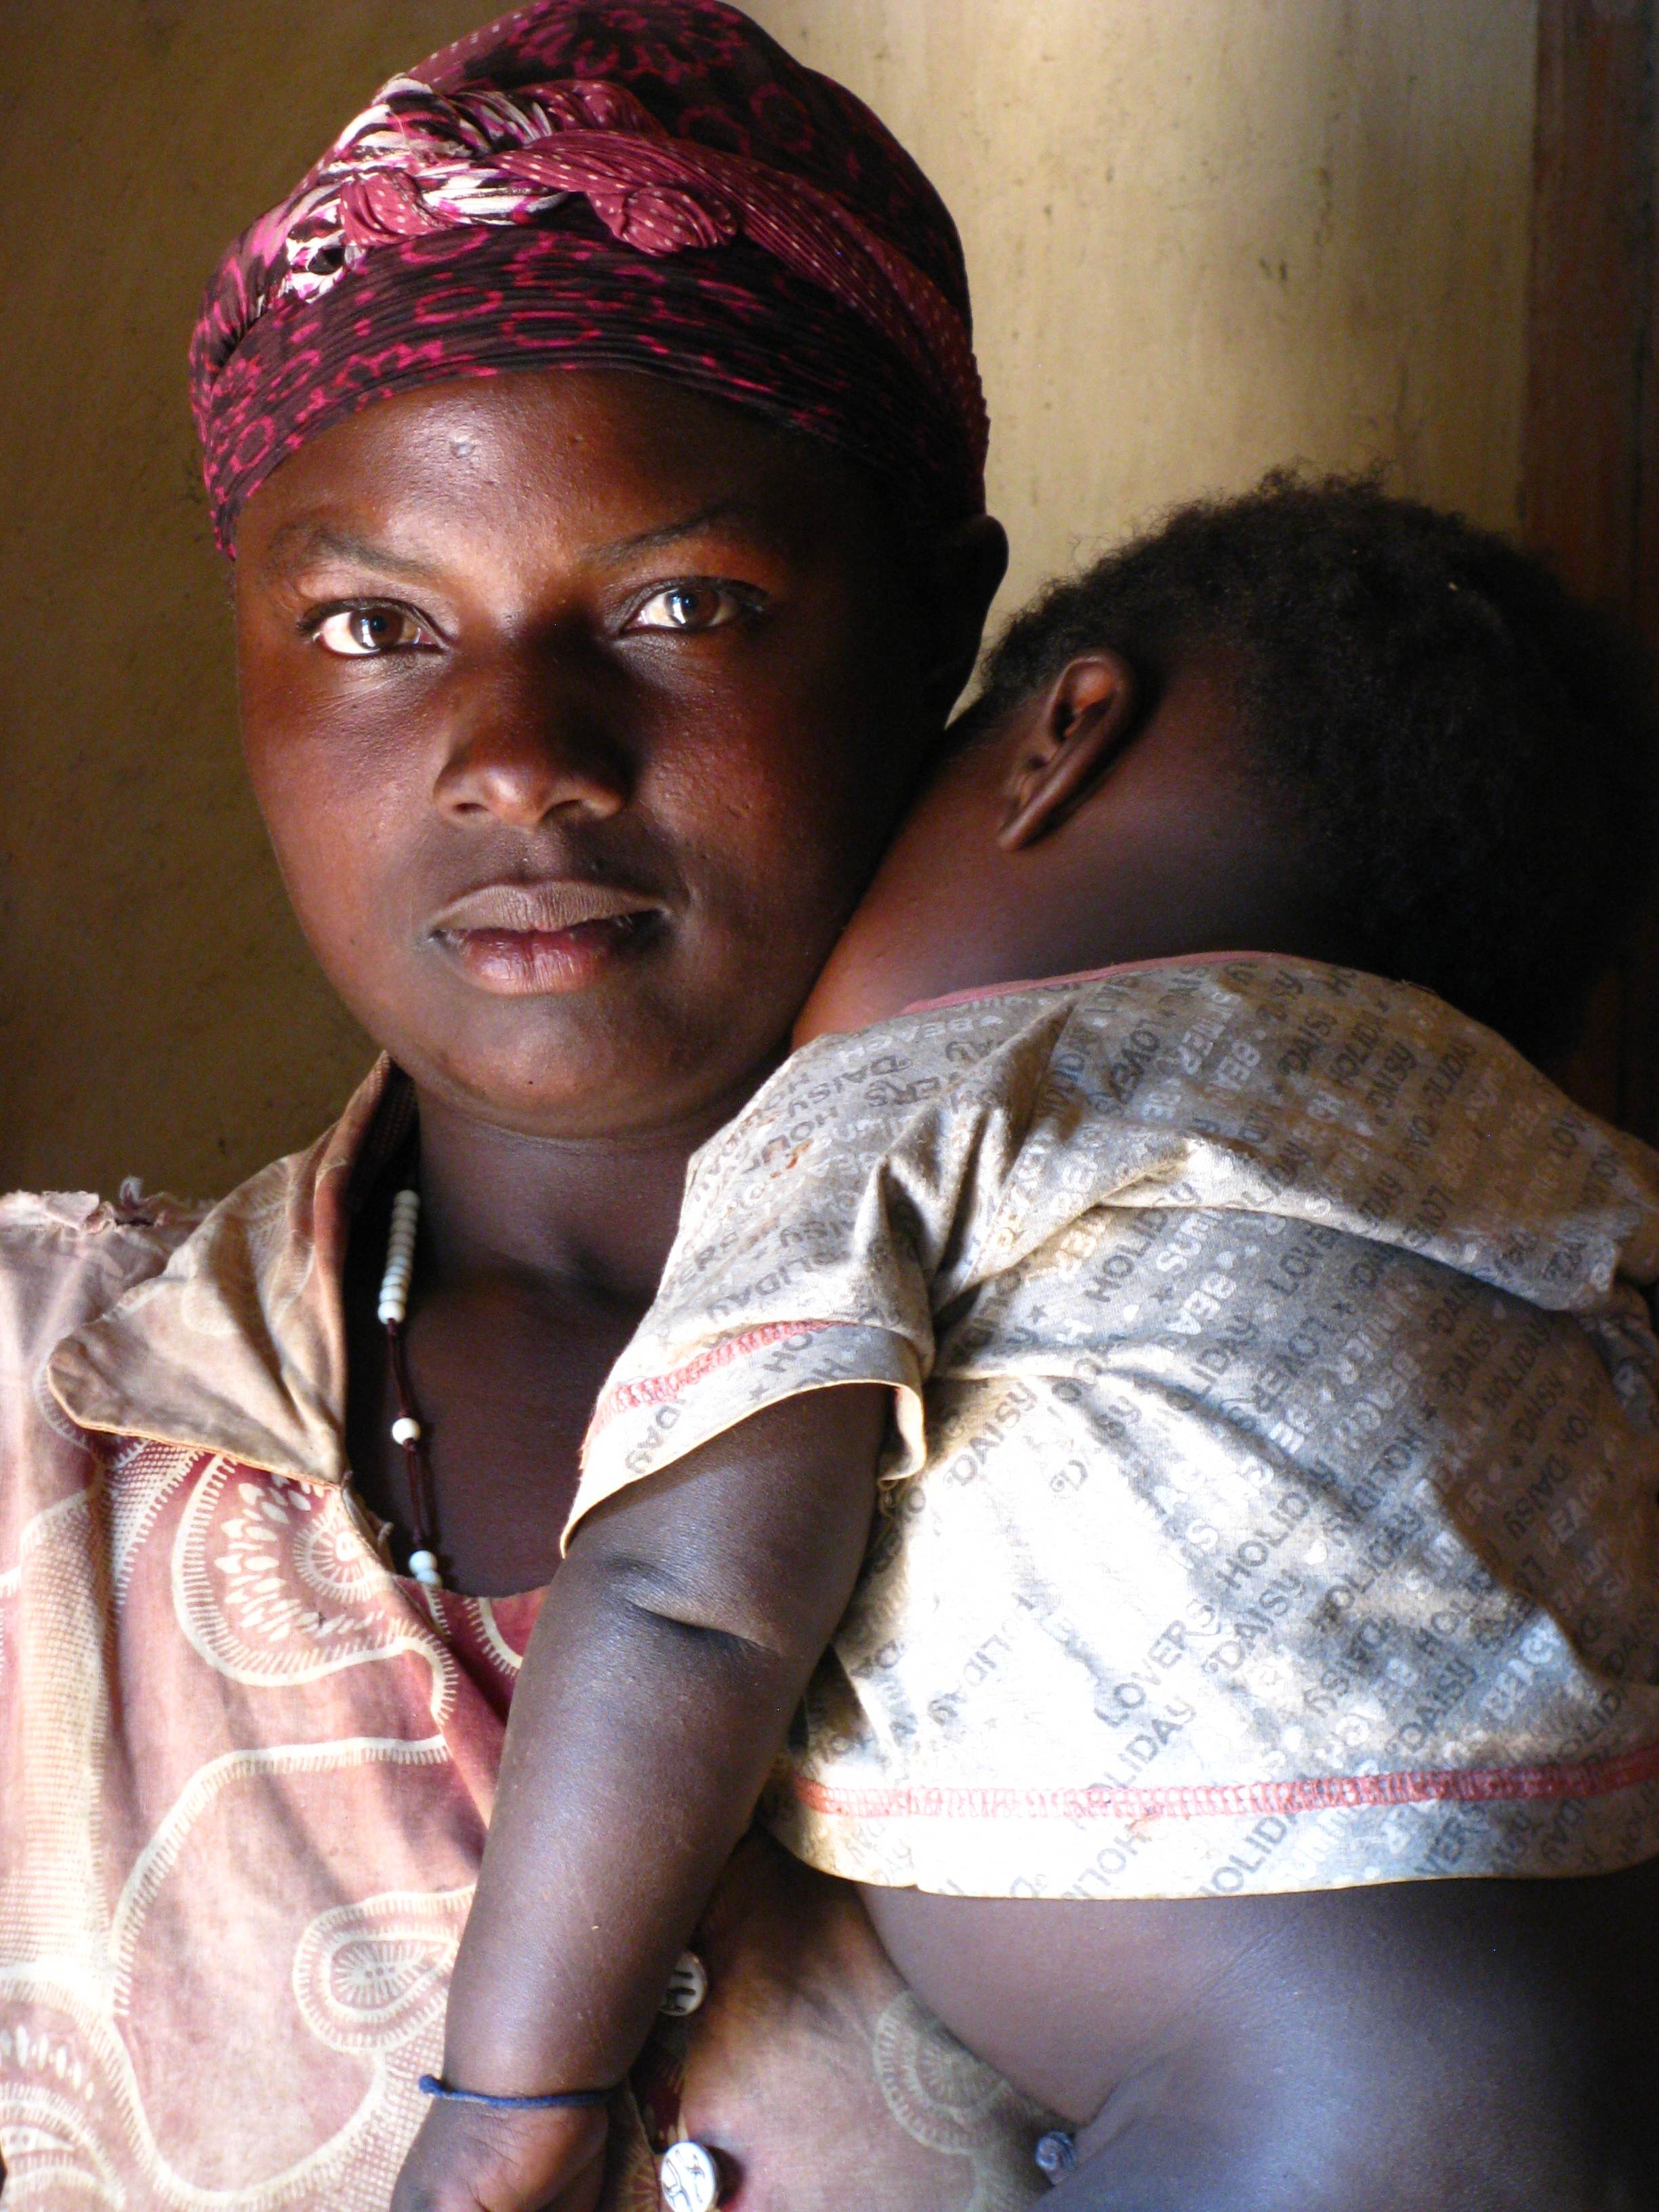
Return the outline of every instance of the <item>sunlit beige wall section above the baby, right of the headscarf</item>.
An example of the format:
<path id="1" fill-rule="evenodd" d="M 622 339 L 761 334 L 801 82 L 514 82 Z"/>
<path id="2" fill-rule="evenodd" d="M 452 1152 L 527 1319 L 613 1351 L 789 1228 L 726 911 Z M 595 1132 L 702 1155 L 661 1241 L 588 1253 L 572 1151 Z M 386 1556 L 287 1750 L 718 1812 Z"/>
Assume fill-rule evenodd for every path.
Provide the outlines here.
<path id="1" fill-rule="evenodd" d="M 1004 606 L 1283 460 L 1517 520 L 1535 0 L 750 11 L 960 223 Z"/>

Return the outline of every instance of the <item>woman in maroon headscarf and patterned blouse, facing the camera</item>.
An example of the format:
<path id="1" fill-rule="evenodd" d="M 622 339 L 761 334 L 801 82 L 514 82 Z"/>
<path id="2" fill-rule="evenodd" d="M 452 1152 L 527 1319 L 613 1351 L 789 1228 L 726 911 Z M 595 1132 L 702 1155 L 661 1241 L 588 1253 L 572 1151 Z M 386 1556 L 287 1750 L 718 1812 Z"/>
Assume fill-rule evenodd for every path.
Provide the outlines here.
<path id="1" fill-rule="evenodd" d="M 398 80 L 226 257 L 195 394 L 254 790 L 389 1060 L 204 1219 L 0 1210 L 0 2154 L 9 2208 L 372 2212 L 593 1394 L 1002 535 L 949 217 L 714 0 Z M 1042 2185 L 847 1891 L 752 1845 L 703 1964 L 641 2093 L 745 2201 Z"/>

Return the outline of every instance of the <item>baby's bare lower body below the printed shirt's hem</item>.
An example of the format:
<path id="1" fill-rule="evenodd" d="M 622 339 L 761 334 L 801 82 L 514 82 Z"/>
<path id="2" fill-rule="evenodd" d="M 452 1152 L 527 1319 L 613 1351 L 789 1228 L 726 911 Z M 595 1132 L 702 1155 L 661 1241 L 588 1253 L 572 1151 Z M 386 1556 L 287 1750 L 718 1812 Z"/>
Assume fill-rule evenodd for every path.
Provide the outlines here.
<path id="1" fill-rule="evenodd" d="M 1659 2212 L 1659 1860 L 1168 1902 L 860 1893 L 916 1995 L 1077 2128 L 1055 2212 Z"/>

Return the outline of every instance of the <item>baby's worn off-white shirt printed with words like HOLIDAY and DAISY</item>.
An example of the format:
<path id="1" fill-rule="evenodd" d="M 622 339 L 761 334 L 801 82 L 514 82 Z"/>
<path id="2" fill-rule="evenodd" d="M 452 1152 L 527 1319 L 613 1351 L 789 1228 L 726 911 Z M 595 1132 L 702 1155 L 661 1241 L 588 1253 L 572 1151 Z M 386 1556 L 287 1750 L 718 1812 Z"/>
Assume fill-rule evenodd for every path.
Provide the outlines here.
<path id="1" fill-rule="evenodd" d="M 571 1524 L 894 1387 L 772 1794 L 827 1871 L 1206 1896 L 1659 1854 L 1659 1157 L 1425 991 L 1152 962 L 796 1053 Z"/>

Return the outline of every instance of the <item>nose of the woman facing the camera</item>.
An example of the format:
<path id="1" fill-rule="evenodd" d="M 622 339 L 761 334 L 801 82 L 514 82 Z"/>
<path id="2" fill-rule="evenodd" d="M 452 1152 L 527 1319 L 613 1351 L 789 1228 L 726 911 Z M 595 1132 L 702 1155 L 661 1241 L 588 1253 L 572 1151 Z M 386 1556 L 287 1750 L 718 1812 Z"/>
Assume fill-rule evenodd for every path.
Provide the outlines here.
<path id="1" fill-rule="evenodd" d="M 465 701 L 434 799 L 456 821 L 493 816 L 538 830 L 562 810 L 617 814 L 628 776 L 617 748 L 555 686 L 513 681 Z"/>

